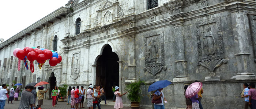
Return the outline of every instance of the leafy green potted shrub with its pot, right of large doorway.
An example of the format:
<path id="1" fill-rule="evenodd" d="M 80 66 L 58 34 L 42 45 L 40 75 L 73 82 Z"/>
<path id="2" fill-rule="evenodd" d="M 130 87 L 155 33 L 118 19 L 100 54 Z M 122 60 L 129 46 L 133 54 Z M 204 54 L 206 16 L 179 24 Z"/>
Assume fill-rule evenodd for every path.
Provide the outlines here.
<path id="1" fill-rule="evenodd" d="M 144 84 L 144 81 L 138 81 L 138 82 L 133 82 L 131 84 L 126 85 L 125 90 L 128 92 L 128 99 L 131 102 L 131 108 L 132 109 L 139 109 L 140 108 L 140 84 Z"/>

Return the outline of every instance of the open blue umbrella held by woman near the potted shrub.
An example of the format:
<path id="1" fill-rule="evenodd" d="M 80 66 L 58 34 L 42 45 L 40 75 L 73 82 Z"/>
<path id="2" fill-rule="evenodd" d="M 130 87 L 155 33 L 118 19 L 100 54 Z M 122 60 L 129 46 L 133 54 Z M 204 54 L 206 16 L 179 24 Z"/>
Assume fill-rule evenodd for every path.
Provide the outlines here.
<path id="1" fill-rule="evenodd" d="M 165 88 L 166 86 L 168 86 L 170 84 L 172 84 L 172 82 L 170 82 L 168 80 L 157 81 L 149 86 L 147 92 Z"/>

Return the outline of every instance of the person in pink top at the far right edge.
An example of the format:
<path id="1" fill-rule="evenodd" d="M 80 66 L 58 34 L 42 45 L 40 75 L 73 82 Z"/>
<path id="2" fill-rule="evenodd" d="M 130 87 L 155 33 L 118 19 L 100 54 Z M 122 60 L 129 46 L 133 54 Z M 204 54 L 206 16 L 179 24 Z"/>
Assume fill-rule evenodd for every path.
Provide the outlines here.
<path id="1" fill-rule="evenodd" d="M 248 92 L 248 96 L 249 96 L 249 105 L 251 109 L 256 109 L 256 89 L 255 89 L 255 84 L 254 83 L 250 83 L 249 84 L 249 92 Z"/>

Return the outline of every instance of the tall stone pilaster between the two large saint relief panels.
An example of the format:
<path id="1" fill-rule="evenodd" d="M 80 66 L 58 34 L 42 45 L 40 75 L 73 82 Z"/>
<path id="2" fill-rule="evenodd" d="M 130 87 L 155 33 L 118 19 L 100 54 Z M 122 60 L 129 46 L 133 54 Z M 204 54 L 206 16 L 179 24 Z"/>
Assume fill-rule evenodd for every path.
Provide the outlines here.
<path id="1" fill-rule="evenodd" d="M 190 81 L 190 78 L 187 74 L 187 60 L 185 59 L 185 51 L 184 51 L 184 19 L 183 12 L 177 13 L 179 10 L 174 9 L 174 16 L 171 16 L 173 21 L 170 23 L 174 27 L 174 39 L 176 43 L 176 73 L 178 76 L 173 78 L 174 82 L 182 82 L 182 81 Z"/>

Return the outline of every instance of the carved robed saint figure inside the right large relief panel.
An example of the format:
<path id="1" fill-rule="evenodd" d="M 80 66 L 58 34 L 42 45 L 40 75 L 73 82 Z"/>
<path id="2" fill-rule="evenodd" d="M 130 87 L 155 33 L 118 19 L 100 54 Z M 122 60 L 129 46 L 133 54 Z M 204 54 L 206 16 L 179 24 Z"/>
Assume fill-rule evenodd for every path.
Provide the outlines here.
<path id="1" fill-rule="evenodd" d="M 207 49 L 206 54 L 208 56 L 214 55 L 215 50 L 216 50 L 216 48 L 215 48 L 216 43 L 214 40 L 214 34 L 211 31 L 210 27 L 206 28 L 206 33 L 204 34 L 203 39 L 204 39 L 204 47 L 206 47 L 206 49 Z"/>

